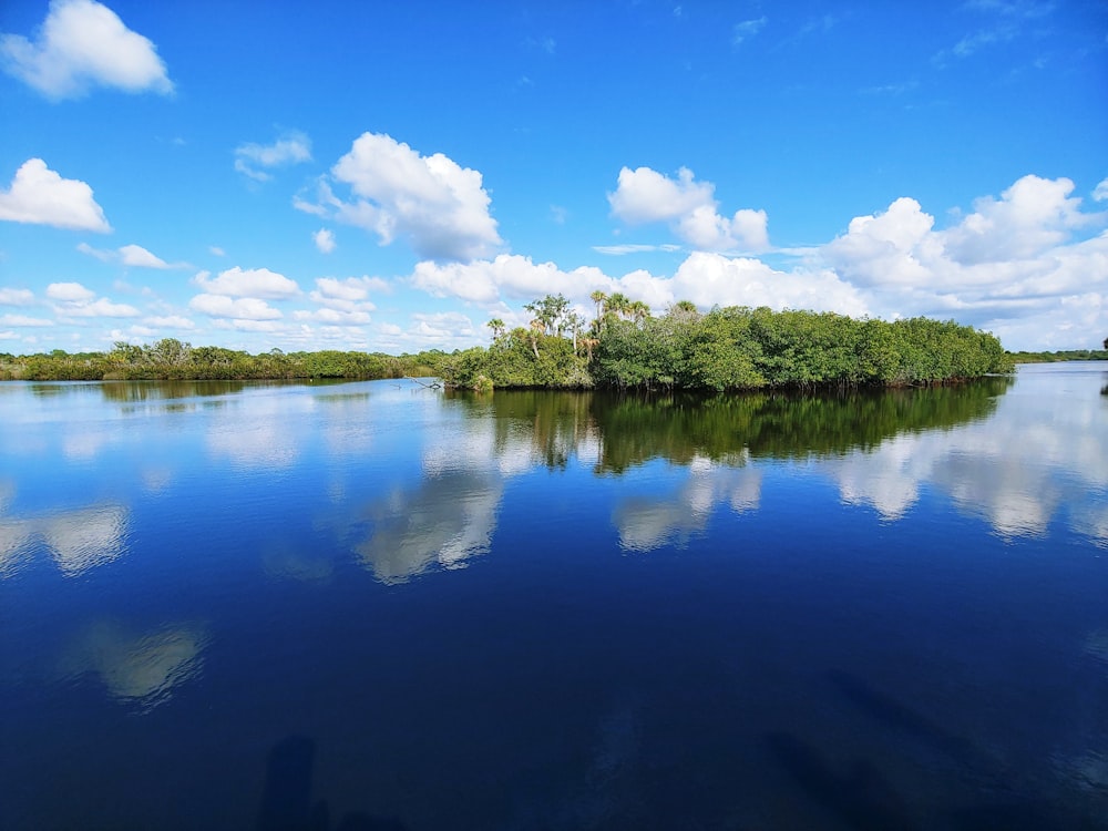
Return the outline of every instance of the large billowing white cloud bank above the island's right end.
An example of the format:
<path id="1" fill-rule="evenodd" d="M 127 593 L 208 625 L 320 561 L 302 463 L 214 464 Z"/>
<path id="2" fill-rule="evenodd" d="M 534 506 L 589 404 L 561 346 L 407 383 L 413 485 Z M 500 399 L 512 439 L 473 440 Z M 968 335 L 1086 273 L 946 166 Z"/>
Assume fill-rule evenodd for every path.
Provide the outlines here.
<path id="1" fill-rule="evenodd" d="M 1066 178 L 1024 176 L 943 229 L 902 197 L 855 217 L 815 259 L 880 317 L 954 317 L 1009 348 L 1073 347 L 1085 340 L 1075 340 L 1080 327 L 1100 326 L 1096 310 L 1108 299 L 1108 234 L 1074 240 L 1108 215 L 1081 212 L 1073 189 Z"/>

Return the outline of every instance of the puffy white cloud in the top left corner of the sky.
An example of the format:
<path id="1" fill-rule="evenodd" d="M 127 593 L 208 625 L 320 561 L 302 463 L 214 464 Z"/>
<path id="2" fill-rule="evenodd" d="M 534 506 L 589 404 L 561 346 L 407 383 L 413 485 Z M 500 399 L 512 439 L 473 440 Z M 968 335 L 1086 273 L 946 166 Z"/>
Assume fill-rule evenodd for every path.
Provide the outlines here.
<path id="1" fill-rule="evenodd" d="M 125 92 L 173 92 L 154 44 L 92 0 L 53 0 L 37 41 L 0 35 L 3 70 L 53 100 L 90 86 Z"/>

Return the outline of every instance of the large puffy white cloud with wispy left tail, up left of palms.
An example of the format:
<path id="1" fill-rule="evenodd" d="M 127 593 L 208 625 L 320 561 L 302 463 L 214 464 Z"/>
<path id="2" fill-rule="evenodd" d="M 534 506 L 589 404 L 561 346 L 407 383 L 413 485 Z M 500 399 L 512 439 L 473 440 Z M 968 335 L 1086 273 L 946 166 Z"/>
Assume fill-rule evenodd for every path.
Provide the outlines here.
<path id="1" fill-rule="evenodd" d="M 365 228 L 381 245 L 403 239 L 418 256 L 438 261 L 489 256 L 502 245 L 481 173 L 442 153 L 423 156 L 389 135 L 363 133 L 331 178 L 349 186 L 349 201 L 325 179 L 316 202 L 294 205 Z"/>

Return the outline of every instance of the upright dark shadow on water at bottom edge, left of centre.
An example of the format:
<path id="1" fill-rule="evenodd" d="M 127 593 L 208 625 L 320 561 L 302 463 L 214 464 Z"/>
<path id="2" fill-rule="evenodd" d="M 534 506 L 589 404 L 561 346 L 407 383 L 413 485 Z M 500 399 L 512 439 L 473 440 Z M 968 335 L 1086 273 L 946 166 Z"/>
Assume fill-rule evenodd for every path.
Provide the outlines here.
<path id="1" fill-rule="evenodd" d="M 311 800 L 315 762 L 316 742 L 305 736 L 289 736 L 270 749 L 256 831 L 407 831 L 400 820 L 361 811 L 332 825 L 327 802 Z"/>

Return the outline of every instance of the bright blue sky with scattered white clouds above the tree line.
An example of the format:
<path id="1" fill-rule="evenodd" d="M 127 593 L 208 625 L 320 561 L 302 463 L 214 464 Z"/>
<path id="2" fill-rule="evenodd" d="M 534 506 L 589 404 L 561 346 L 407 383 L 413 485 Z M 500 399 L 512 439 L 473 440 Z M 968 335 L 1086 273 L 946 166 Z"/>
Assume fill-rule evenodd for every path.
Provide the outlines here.
<path id="1" fill-rule="evenodd" d="M 0 4 L 0 351 L 561 291 L 1108 337 L 1099 0 Z"/>

